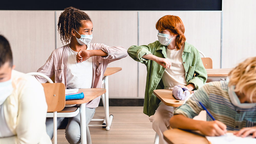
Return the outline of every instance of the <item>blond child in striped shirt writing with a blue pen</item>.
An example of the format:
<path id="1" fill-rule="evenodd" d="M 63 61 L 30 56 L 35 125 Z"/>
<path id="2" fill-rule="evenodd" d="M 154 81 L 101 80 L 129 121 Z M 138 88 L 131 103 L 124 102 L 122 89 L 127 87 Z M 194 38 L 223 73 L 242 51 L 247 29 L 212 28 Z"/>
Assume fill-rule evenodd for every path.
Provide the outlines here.
<path id="1" fill-rule="evenodd" d="M 203 110 L 201 102 L 214 119 L 192 118 Z M 170 119 L 172 128 L 199 130 L 207 136 L 224 135 L 227 130 L 236 136 L 256 137 L 256 57 L 248 58 L 229 72 L 229 83 L 211 82 L 197 90 L 178 107 Z"/>

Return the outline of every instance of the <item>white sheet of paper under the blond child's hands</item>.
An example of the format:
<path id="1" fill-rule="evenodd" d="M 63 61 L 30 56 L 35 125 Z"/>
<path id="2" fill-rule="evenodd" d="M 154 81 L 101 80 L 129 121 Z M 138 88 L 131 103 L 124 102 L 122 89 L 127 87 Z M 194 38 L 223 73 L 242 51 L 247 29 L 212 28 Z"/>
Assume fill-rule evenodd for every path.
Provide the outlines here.
<path id="1" fill-rule="evenodd" d="M 242 144 L 242 143 L 256 143 L 256 138 L 252 138 L 252 136 L 248 137 L 237 137 L 233 133 L 226 133 L 223 136 L 218 137 L 210 137 L 206 136 L 207 140 L 211 142 L 211 144 Z"/>

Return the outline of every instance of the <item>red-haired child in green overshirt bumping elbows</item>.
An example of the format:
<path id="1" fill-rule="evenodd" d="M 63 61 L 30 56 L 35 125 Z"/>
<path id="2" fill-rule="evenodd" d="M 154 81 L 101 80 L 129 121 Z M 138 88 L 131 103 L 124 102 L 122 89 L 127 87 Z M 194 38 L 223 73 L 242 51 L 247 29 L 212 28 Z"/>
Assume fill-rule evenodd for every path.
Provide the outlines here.
<path id="1" fill-rule="evenodd" d="M 128 54 L 147 67 L 147 81 L 143 113 L 150 116 L 152 128 L 159 135 L 159 143 L 167 143 L 162 132 L 170 128 L 173 107 L 163 104 L 154 94 L 155 89 L 184 89 L 185 93 L 202 87 L 207 73 L 198 50 L 186 42 L 185 28 L 178 16 L 166 15 L 156 23 L 158 41 L 142 46 L 131 46 Z"/>

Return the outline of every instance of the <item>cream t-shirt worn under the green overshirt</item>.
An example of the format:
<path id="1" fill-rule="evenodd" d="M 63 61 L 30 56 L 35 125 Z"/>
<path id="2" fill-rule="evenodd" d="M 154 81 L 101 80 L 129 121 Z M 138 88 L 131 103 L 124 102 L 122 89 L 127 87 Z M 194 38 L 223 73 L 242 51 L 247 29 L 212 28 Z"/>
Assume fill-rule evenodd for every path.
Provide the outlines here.
<path id="1" fill-rule="evenodd" d="M 169 50 L 166 48 L 167 60 L 172 62 L 171 68 L 167 68 L 162 76 L 162 81 L 165 87 L 171 87 L 171 89 L 178 84 L 187 85 L 185 79 L 185 69 L 182 61 L 182 53 L 184 45 L 180 50 Z"/>

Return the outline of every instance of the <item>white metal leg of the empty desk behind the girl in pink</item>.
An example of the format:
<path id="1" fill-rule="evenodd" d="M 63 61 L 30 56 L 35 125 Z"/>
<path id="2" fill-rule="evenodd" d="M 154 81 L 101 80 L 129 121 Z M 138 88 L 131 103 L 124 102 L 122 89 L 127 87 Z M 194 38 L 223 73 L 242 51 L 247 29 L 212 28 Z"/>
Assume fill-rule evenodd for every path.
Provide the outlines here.
<path id="1" fill-rule="evenodd" d="M 106 89 L 105 93 L 105 119 L 106 119 L 106 130 L 110 130 L 110 126 L 113 120 L 113 115 L 109 115 L 109 76 L 104 78 L 104 86 Z"/>

